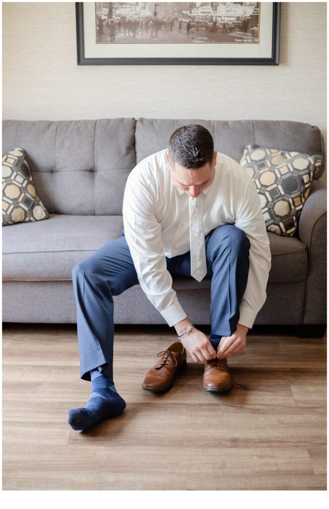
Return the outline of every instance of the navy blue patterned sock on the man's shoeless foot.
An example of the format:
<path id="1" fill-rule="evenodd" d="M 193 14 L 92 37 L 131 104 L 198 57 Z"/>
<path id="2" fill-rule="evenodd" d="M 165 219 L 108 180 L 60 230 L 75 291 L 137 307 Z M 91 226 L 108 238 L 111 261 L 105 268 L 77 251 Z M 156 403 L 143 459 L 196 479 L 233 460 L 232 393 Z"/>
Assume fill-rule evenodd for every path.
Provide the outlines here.
<path id="1" fill-rule="evenodd" d="M 92 394 L 86 407 L 69 410 L 68 423 L 75 431 L 94 428 L 99 422 L 120 414 L 126 408 L 113 379 L 100 373 L 102 366 L 91 370 Z"/>

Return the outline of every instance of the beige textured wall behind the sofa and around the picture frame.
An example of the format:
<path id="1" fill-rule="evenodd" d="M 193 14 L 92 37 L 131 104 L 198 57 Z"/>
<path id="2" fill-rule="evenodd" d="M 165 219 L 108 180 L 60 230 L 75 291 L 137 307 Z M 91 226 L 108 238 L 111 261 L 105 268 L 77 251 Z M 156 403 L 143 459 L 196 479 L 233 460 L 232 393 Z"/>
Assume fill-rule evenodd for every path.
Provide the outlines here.
<path id="1" fill-rule="evenodd" d="M 2 6 L 3 119 L 294 120 L 326 147 L 326 2 L 281 4 L 279 66 L 78 66 L 73 2 Z"/>

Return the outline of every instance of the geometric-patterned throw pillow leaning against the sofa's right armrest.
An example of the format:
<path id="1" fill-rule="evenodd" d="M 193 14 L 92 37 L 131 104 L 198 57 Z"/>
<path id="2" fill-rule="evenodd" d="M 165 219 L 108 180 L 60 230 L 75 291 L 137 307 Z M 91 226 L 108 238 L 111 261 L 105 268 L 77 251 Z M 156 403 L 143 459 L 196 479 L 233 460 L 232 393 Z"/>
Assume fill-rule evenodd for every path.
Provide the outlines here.
<path id="1" fill-rule="evenodd" d="M 246 168 L 260 196 L 266 230 L 292 237 L 322 156 L 250 144 L 245 147 L 240 164 Z"/>

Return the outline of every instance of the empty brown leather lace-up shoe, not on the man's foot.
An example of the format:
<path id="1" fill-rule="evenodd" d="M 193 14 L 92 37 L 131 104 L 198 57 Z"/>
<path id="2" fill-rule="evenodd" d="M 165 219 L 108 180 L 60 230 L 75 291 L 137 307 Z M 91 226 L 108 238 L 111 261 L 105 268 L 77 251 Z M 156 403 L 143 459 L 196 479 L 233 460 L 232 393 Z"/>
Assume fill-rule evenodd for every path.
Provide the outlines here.
<path id="1" fill-rule="evenodd" d="M 167 348 L 158 353 L 162 357 L 146 373 L 142 388 L 153 392 L 163 392 L 173 385 L 176 373 L 187 365 L 186 348 L 180 341 L 175 341 Z"/>

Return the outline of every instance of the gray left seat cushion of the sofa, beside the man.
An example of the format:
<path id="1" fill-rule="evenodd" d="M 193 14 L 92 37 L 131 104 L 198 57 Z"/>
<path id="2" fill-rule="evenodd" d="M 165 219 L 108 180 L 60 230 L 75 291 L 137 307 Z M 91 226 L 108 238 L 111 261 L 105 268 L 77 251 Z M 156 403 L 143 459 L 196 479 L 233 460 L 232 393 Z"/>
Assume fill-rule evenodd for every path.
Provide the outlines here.
<path id="1" fill-rule="evenodd" d="M 74 265 L 121 236 L 122 216 L 49 214 L 3 229 L 4 280 L 72 279 Z"/>

